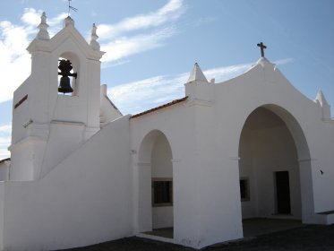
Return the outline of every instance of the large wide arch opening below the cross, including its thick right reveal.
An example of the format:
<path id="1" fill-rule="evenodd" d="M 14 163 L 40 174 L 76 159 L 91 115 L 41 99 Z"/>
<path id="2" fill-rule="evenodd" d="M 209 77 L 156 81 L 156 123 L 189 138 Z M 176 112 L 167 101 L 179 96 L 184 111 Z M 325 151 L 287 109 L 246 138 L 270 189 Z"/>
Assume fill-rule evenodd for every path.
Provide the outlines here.
<path id="1" fill-rule="evenodd" d="M 243 225 L 253 218 L 312 219 L 310 152 L 302 128 L 286 109 L 253 110 L 240 134 L 239 157 Z"/>

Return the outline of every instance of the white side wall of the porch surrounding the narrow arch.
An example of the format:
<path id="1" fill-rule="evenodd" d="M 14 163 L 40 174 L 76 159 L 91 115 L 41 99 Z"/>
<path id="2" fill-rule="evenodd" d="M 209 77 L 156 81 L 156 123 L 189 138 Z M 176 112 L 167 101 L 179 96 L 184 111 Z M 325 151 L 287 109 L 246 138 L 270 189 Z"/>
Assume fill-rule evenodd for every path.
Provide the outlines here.
<path id="1" fill-rule="evenodd" d="M 197 201 L 198 184 L 196 180 L 195 144 L 193 140 L 193 114 L 186 113 L 184 103 L 164 110 L 131 119 L 131 144 L 136 151 L 133 154 L 134 180 L 134 233 L 150 230 L 151 195 L 150 195 L 150 153 L 141 158 L 140 146 L 145 135 L 158 129 L 166 135 L 173 152 L 174 182 L 174 239 L 176 243 L 193 246 L 198 243 L 200 233 L 199 207 Z M 187 140 L 184 141 L 183 139 Z M 138 189 L 136 188 L 138 187 Z M 138 209 L 138 210 L 137 210 Z M 136 213 L 138 212 L 138 214 Z"/>

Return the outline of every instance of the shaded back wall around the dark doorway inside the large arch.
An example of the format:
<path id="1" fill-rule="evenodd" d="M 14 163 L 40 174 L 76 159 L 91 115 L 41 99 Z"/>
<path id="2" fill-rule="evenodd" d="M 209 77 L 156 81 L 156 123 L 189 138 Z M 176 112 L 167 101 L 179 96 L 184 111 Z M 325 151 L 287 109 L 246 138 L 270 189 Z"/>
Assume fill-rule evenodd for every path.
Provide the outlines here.
<path id="1" fill-rule="evenodd" d="M 253 165 L 258 177 L 258 215 L 275 215 L 276 171 L 288 171 L 290 187 L 291 216 L 301 219 L 300 177 L 295 152 L 295 143 L 286 127 L 270 128 L 253 134 Z M 258 152 L 256 152 L 258 151 Z M 262 155 L 263 154 L 263 155 Z"/>

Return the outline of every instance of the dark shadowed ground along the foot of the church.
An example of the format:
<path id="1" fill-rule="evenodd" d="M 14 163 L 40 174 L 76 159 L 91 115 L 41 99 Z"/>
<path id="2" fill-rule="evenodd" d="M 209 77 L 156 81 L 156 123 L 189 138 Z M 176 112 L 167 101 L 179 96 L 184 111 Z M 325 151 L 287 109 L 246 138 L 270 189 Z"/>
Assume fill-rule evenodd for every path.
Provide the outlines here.
<path id="1" fill-rule="evenodd" d="M 67 251 L 191 251 L 190 247 L 153 241 L 145 238 L 122 238 L 90 247 L 77 247 Z M 297 229 L 288 229 L 265 234 L 256 238 L 223 243 L 205 247 L 205 251 L 255 251 L 255 250 L 334 250 L 334 224 L 330 226 L 307 225 Z"/>

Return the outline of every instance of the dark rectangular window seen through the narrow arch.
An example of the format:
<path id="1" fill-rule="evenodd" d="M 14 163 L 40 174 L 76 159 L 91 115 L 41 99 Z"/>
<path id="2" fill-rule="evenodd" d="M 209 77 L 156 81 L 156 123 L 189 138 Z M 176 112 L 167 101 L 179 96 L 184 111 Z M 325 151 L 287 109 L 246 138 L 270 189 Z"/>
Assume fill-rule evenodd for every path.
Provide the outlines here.
<path id="1" fill-rule="evenodd" d="M 173 181 L 155 178 L 152 180 L 152 205 L 173 205 Z"/>

